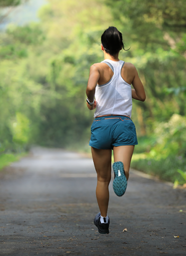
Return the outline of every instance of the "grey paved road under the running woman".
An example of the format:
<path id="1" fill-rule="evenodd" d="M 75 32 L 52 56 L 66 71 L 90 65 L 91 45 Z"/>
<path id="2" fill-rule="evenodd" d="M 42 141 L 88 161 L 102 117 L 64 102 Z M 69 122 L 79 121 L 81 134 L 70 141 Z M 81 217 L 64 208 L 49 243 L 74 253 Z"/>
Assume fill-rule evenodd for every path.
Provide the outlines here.
<path id="1" fill-rule="evenodd" d="M 33 148 L 0 174 L 0 255 L 185 255 L 186 191 L 136 173 L 100 235 L 91 158 Z"/>

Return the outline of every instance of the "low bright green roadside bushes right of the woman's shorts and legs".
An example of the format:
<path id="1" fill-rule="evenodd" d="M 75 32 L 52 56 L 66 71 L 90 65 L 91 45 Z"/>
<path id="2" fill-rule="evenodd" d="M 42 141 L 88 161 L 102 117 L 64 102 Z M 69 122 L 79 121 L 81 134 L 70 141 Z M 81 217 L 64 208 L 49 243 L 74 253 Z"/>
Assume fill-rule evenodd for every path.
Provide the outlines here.
<path id="1" fill-rule="evenodd" d="M 139 139 L 131 167 L 163 180 L 175 181 L 174 185 L 185 183 L 184 172 L 177 170 L 180 168 L 186 171 L 185 116 L 173 114 L 167 122 L 154 123 L 153 131 L 151 136 Z"/>

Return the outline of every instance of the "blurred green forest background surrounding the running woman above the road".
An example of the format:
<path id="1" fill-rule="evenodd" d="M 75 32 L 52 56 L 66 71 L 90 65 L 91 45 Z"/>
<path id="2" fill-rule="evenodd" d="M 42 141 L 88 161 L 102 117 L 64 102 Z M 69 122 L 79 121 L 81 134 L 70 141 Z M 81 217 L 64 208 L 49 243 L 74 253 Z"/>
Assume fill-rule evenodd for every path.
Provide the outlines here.
<path id="1" fill-rule="evenodd" d="M 0 0 L 0 27 L 24 2 Z M 185 183 L 185 9 L 185 0 L 46 0 L 37 21 L 1 28 L 0 167 L 32 144 L 89 150 L 89 66 L 103 60 L 100 36 L 113 25 L 131 47 L 119 57 L 136 66 L 146 92 L 133 100 L 132 167 Z"/>

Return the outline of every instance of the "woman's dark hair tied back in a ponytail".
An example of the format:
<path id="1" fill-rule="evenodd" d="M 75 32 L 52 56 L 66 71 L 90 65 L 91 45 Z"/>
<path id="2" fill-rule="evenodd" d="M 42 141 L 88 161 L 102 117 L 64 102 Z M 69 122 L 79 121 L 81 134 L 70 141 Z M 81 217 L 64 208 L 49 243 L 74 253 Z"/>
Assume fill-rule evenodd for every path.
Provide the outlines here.
<path id="1" fill-rule="evenodd" d="M 101 35 L 101 43 L 106 53 L 109 53 L 110 55 L 115 55 L 121 48 L 124 49 L 122 34 L 114 26 L 109 26 L 103 32 Z"/>

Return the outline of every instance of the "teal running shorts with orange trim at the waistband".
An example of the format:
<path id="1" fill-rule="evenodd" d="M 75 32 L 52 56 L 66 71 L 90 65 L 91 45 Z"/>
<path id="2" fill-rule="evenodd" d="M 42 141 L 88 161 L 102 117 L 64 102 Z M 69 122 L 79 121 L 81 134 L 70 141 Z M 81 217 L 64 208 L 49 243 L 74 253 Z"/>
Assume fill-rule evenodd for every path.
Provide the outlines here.
<path id="1" fill-rule="evenodd" d="M 135 125 L 123 115 L 98 116 L 91 125 L 89 145 L 99 149 L 113 146 L 137 145 Z"/>

